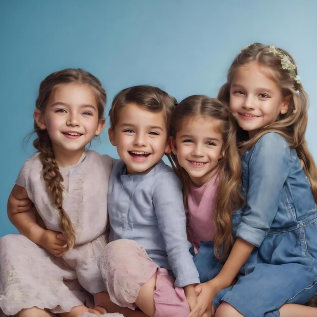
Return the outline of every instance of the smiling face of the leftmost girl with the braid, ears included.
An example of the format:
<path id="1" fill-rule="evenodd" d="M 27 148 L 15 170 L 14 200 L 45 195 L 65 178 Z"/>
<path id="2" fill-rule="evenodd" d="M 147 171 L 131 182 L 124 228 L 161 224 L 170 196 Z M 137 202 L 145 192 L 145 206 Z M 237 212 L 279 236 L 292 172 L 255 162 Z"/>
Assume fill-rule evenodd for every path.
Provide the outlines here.
<path id="1" fill-rule="evenodd" d="M 105 120 L 99 119 L 96 96 L 85 84 L 59 84 L 44 112 L 36 109 L 34 120 L 47 129 L 59 166 L 78 162 L 85 146 L 102 131 Z"/>

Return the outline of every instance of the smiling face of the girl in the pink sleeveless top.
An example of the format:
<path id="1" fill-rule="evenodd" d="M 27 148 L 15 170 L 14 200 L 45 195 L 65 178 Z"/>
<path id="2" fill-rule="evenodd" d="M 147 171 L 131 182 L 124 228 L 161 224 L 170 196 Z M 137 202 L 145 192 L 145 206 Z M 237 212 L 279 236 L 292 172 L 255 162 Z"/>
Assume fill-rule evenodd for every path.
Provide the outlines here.
<path id="1" fill-rule="evenodd" d="M 196 187 L 211 179 L 222 159 L 221 121 L 210 116 L 188 118 L 180 125 L 172 150 Z"/>

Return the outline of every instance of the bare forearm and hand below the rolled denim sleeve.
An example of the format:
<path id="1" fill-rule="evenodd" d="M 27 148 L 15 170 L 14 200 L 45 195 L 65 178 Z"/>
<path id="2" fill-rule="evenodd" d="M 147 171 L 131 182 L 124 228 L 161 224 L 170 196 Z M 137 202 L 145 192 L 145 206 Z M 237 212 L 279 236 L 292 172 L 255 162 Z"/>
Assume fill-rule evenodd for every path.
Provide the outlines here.
<path id="1" fill-rule="evenodd" d="M 236 239 L 229 257 L 218 275 L 195 288 L 196 292 L 199 293 L 197 304 L 188 317 L 201 316 L 218 292 L 232 284 L 235 276 L 248 260 L 253 248 L 254 246 L 251 243 L 241 238 Z"/>

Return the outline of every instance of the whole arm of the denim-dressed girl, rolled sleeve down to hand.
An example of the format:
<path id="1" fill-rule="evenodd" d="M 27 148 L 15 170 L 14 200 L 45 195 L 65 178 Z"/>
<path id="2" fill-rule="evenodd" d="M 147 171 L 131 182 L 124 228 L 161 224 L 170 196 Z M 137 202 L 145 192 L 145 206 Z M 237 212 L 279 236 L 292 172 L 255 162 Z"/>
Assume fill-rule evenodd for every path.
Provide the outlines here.
<path id="1" fill-rule="evenodd" d="M 230 285 L 229 281 L 239 272 L 253 248 L 259 248 L 262 244 L 278 211 L 281 190 L 290 171 L 286 166 L 292 166 L 294 160 L 286 140 L 276 133 L 265 134 L 250 150 L 247 201 L 242 220 L 235 232 L 236 242 L 216 278 L 197 287 L 197 291 L 201 291 L 200 295 L 206 292 L 211 295 L 209 299 L 207 294 L 204 295 L 204 299 L 208 301 L 205 307 L 217 295 L 217 290 Z M 220 286 L 222 288 L 219 289 Z M 189 316 L 196 315 L 198 314 Z"/>

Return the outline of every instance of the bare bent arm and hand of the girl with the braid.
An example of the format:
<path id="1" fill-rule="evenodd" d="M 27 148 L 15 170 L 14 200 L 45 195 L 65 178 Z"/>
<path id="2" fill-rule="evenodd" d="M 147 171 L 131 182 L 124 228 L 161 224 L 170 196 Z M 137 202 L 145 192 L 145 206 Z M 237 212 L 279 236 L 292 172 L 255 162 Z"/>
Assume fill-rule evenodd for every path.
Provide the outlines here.
<path id="1" fill-rule="evenodd" d="M 36 210 L 24 187 L 14 185 L 8 200 L 8 217 L 21 234 L 53 255 L 62 256 L 67 251 L 66 240 L 61 232 L 37 224 Z"/>

